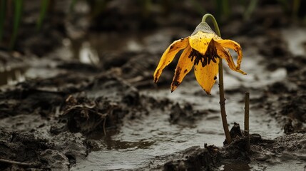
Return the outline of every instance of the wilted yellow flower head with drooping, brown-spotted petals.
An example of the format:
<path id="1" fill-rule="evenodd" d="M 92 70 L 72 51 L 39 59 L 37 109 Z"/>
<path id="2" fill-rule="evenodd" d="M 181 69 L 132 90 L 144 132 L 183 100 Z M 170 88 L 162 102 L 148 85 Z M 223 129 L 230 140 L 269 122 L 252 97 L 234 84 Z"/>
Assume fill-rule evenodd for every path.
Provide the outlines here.
<path id="1" fill-rule="evenodd" d="M 228 48 L 238 53 L 237 65 L 230 56 Z M 191 36 L 174 41 L 165 50 L 154 72 L 155 83 L 158 82 L 165 66 L 168 66 L 176 53 L 183 49 L 184 51 L 180 55 L 178 65 L 175 68 L 171 92 L 182 83 L 183 78 L 194 67 L 195 78 L 205 92 L 210 94 L 210 90 L 217 79 L 220 58 L 225 59 L 233 71 L 246 74 L 240 70 L 240 63 L 243 59 L 240 45 L 235 41 L 223 40 L 215 34 L 207 23 L 202 22 L 195 28 Z"/>

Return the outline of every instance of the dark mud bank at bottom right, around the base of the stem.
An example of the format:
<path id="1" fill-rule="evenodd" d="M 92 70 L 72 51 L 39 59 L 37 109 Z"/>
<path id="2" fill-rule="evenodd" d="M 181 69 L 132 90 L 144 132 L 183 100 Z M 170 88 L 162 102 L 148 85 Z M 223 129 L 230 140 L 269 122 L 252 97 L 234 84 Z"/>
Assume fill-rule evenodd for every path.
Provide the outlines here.
<path id="1" fill-rule="evenodd" d="M 233 128 L 240 130 L 237 126 Z M 258 134 L 251 134 L 251 149 L 248 152 L 247 139 L 242 133 L 224 147 L 205 144 L 204 148 L 189 147 L 172 155 L 155 157 L 151 167 L 160 170 L 220 170 L 221 167 L 247 170 L 250 169 L 249 164 L 260 167 L 262 163 L 277 165 L 275 161 L 302 162 L 305 160 L 305 138 L 305 134 L 292 133 L 274 140 L 265 140 Z"/>

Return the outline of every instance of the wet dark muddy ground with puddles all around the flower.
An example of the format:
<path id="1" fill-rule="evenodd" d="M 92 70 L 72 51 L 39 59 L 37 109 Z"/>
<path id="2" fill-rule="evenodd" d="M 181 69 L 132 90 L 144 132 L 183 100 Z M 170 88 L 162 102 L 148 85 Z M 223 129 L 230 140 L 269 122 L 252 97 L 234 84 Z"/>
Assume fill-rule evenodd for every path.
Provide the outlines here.
<path id="1" fill-rule="evenodd" d="M 260 7 L 221 25 L 248 73 L 224 66 L 230 145 L 218 83 L 206 95 L 190 72 L 170 93 L 175 62 L 153 83 L 165 48 L 200 22 L 192 7 L 135 19 L 141 11 L 114 2 L 106 20 L 58 12 L 40 33 L 24 21 L 16 51 L 0 50 L 0 170 L 306 170 L 306 29 L 275 4 Z"/>

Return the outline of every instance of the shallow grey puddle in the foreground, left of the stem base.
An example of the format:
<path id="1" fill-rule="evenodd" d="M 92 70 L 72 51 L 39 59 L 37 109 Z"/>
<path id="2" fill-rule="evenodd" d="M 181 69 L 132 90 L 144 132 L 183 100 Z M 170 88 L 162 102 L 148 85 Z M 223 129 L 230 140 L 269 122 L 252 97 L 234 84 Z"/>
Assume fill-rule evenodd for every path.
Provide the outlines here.
<path id="1" fill-rule="evenodd" d="M 197 128 L 171 125 L 168 117 L 165 113 L 153 112 L 145 119 L 126 121 L 121 132 L 111 137 L 117 145 L 106 145 L 91 152 L 87 160 L 81 161 L 72 170 L 136 169 L 148 165 L 155 156 L 170 155 L 193 145 L 203 146 L 204 141 L 223 140 L 222 135 L 219 135 L 219 140 L 212 140 L 198 133 Z"/>

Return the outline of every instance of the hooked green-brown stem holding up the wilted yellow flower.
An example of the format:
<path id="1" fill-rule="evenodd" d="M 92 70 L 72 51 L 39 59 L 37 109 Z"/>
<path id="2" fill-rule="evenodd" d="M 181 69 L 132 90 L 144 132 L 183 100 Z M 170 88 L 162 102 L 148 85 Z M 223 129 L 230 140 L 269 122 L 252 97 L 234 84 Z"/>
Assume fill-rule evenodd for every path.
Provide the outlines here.
<path id="1" fill-rule="evenodd" d="M 213 21 L 213 26 L 215 27 L 215 31 L 217 32 L 217 35 L 221 37 L 220 29 L 218 26 L 217 21 L 215 20 L 215 17 L 213 17 L 212 14 L 205 14 L 203 16 L 202 22 L 206 22 L 206 19 L 210 17 L 210 19 Z M 220 58 L 219 62 L 219 93 L 220 93 L 220 110 L 221 110 L 221 118 L 223 123 L 223 130 L 225 133 L 226 142 L 230 144 L 232 142 L 232 138 L 230 137 L 230 130 L 228 130 L 228 120 L 226 119 L 226 111 L 225 111 L 225 98 L 224 98 L 224 88 L 223 88 L 223 64 L 222 59 Z"/>

